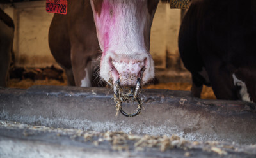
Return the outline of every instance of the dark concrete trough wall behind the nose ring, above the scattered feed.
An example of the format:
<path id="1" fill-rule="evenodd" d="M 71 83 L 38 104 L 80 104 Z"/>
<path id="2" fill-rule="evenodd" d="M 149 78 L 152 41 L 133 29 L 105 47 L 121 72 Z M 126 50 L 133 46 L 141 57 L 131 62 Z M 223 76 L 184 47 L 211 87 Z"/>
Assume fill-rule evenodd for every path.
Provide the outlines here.
<path id="1" fill-rule="evenodd" d="M 0 89 L 0 119 L 49 127 L 124 131 L 193 141 L 256 143 L 254 103 L 202 100 L 190 92 L 143 89 L 140 115 L 116 116 L 113 92 L 105 88 L 33 86 Z M 124 104 L 134 110 L 136 105 Z"/>

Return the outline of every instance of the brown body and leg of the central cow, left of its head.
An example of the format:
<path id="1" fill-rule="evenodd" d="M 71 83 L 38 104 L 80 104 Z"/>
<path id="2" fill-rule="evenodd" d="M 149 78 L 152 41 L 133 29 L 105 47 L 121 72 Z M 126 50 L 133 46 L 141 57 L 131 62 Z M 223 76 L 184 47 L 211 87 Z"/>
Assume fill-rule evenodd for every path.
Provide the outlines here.
<path id="1" fill-rule="evenodd" d="M 66 71 L 68 85 L 89 87 L 92 59 L 100 55 L 100 48 L 88 1 L 68 1 L 67 15 L 54 15 L 49 46 Z"/>

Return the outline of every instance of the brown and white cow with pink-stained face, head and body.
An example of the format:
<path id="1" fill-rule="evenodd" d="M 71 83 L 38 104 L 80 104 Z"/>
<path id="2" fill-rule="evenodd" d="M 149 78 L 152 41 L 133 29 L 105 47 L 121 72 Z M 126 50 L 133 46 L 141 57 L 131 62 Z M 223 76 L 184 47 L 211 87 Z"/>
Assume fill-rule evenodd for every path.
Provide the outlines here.
<path id="1" fill-rule="evenodd" d="M 69 85 L 90 87 L 93 62 L 100 77 L 134 87 L 154 77 L 150 28 L 159 0 L 72 0 L 67 15 L 54 15 L 49 46 Z M 100 51 L 101 50 L 101 51 Z"/>

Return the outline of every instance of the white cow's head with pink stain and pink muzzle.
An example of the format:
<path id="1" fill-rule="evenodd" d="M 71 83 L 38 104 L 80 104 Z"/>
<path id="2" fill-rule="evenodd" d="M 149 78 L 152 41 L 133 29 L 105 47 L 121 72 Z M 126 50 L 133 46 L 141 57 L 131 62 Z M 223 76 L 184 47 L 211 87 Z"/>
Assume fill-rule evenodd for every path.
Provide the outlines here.
<path id="1" fill-rule="evenodd" d="M 133 87 L 154 77 L 150 28 L 159 0 L 90 0 L 99 45 L 100 76 Z M 142 72 L 142 73 L 141 73 Z M 141 76 L 142 75 L 142 76 Z"/>

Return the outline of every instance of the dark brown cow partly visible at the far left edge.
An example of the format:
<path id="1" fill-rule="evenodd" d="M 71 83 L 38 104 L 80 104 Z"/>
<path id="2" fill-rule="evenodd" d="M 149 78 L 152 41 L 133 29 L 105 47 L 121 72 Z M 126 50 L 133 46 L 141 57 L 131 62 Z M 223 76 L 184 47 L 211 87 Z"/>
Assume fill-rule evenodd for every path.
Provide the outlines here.
<path id="1" fill-rule="evenodd" d="M 11 51 L 14 36 L 14 24 L 0 8 L 0 87 L 7 86 L 8 69 L 11 61 Z"/>

